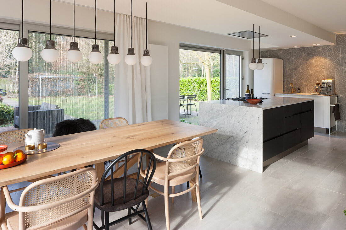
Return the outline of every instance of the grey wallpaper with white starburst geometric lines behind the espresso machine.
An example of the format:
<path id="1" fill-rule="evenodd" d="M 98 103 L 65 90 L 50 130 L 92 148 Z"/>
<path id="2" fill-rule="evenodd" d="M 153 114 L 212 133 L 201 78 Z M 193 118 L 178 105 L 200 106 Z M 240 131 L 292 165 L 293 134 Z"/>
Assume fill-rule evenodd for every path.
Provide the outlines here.
<path id="1" fill-rule="evenodd" d="M 336 44 L 291 49 L 263 50 L 261 58 L 283 60 L 283 91 L 300 87 L 301 93 L 312 93 L 315 83 L 335 79 L 334 93 L 339 97 L 341 120 L 338 131 L 346 132 L 346 34 L 336 35 Z"/>

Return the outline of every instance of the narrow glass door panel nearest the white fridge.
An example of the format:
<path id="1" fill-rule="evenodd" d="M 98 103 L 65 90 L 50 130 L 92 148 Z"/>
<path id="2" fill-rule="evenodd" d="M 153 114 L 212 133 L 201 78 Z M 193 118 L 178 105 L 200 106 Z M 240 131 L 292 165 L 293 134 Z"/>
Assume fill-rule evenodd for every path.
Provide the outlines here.
<path id="1" fill-rule="evenodd" d="M 224 51 L 224 99 L 242 95 L 242 57 L 243 52 Z"/>

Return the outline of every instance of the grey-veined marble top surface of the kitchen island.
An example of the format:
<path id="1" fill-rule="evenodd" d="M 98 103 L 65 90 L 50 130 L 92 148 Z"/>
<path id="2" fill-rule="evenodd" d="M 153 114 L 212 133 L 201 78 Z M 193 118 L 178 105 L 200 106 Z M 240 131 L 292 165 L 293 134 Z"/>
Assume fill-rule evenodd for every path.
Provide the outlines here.
<path id="1" fill-rule="evenodd" d="M 233 105 L 233 106 L 244 106 L 251 108 L 260 108 L 260 109 L 270 109 L 281 107 L 285 105 L 293 105 L 302 102 L 308 102 L 313 100 L 312 98 L 297 98 L 297 97 L 274 97 L 271 99 L 264 99 L 263 103 L 258 103 L 256 105 L 252 105 L 250 103 L 239 102 L 235 100 L 210 100 L 207 102 L 200 103 L 211 103 L 211 104 L 219 104 L 219 105 Z"/>

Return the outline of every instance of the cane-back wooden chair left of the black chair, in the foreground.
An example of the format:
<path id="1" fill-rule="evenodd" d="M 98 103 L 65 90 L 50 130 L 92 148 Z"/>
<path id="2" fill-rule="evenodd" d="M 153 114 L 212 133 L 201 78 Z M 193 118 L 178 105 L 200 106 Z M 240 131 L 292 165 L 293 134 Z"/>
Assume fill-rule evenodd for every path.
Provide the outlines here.
<path id="1" fill-rule="evenodd" d="M 96 170 L 75 172 L 36 181 L 22 192 L 19 205 L 13 203 L 7 186 L 2 187 L 8 206 L 9 230 L 92 230 L 94 191 L 99 181 Z M 85 225 L 87 222 L 88 226 Z"/>

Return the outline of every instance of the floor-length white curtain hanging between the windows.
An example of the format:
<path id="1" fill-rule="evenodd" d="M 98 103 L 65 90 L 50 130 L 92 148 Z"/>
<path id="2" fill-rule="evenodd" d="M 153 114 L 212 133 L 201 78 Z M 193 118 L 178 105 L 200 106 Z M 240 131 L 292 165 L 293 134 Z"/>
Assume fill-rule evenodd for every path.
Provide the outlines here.
<path id="1" fill-rule="evenodd" d="M 124 117 L 129 124 L 152 121 L 150 68 L 140 63 L 146 32 L 145 19 L 132 17 L 132 47 L 137 63 L 127 65 L 124 58 L 131 47 L 130 16 L 118 14 L 115 42 L 121 61 L 115 66 L 114 117 Z"/>

